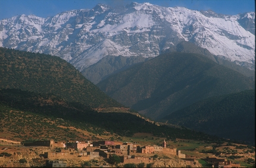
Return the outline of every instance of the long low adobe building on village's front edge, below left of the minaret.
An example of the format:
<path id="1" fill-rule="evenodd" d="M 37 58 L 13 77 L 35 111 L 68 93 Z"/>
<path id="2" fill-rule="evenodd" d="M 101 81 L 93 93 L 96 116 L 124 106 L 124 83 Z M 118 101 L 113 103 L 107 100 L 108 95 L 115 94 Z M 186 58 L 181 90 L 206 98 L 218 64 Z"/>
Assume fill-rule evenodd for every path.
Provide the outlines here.
<path id="1" fill-rule="evenodd" d="M 121 156 L 121 163 L 153 163 L 153 158 L 151 157 L 142 157 L 142 156 Z"/>

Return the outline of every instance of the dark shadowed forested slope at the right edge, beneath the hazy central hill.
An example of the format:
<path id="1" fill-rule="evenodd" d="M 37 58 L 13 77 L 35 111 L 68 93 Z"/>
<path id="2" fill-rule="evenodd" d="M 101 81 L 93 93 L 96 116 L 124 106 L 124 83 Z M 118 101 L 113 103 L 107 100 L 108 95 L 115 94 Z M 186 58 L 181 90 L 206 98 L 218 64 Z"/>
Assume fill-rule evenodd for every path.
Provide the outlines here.
<path id="1" fill-rule="evenodd" d="M 211 97 L 163 118 L 207 134 L 255 144 L 255 90 Z"/>

